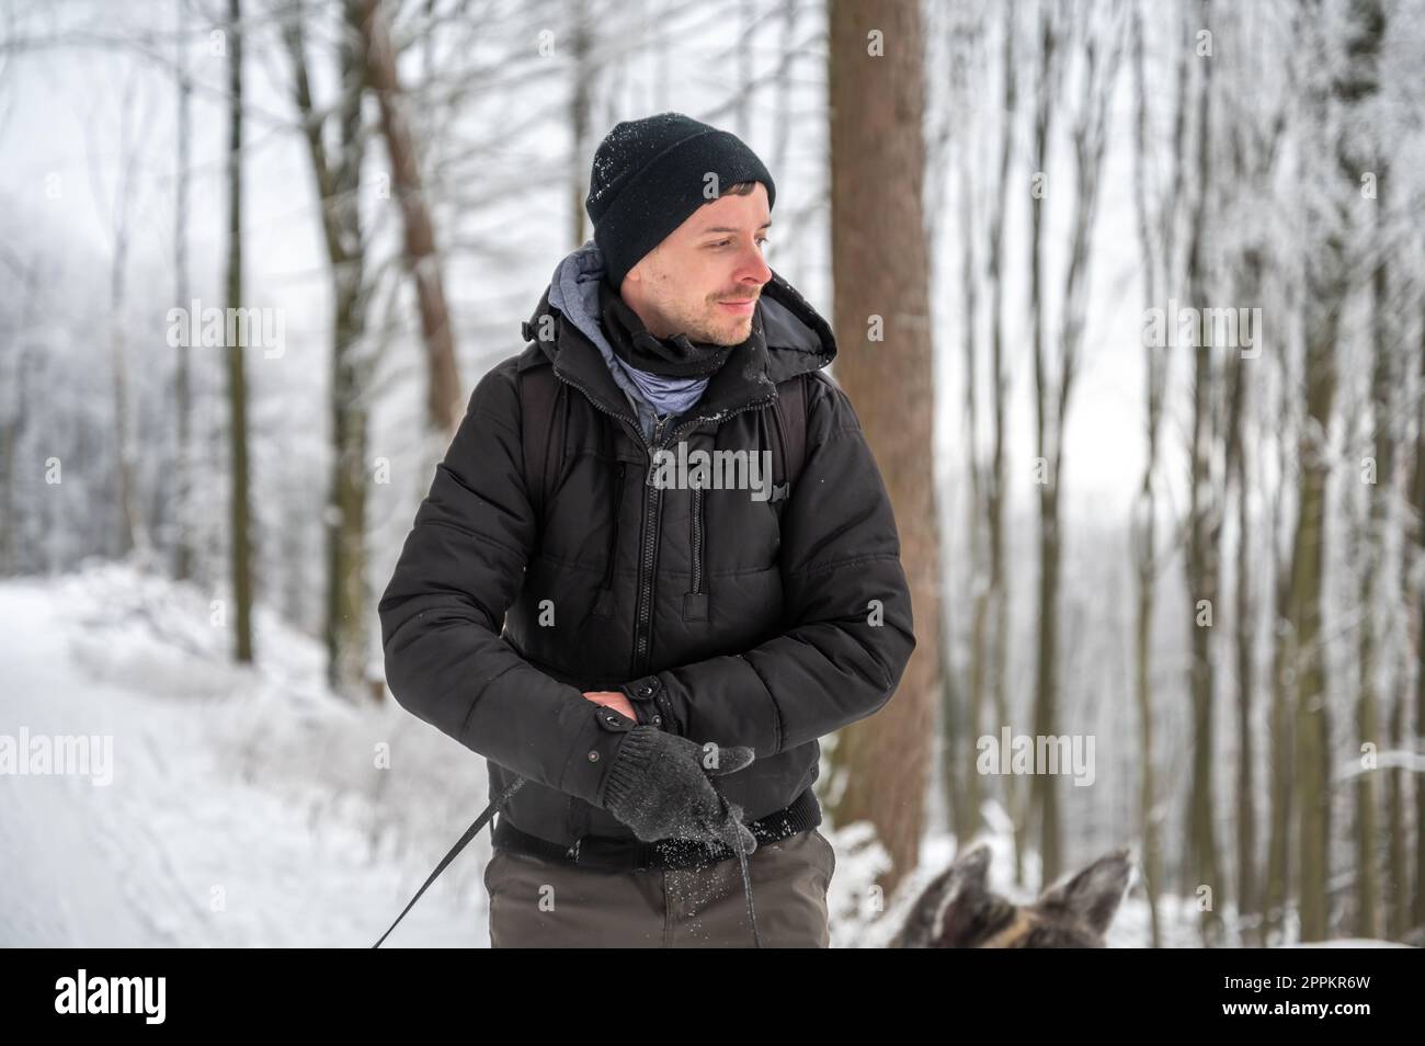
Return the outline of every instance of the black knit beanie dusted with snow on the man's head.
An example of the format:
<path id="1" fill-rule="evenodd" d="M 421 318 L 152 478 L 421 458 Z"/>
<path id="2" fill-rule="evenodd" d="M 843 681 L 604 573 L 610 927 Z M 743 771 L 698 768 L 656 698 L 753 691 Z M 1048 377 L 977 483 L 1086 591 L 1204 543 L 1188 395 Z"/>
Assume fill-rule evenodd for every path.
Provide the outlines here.
<path id="1" fill-rule="evenodd" d="M 614 127 L 594 152 L 584 201 L 610 284 L 618 289 L 628 269 L 690 214 L 741 181 L 762 182 L 767 207 L 772 207 L 772 175 L 730 131 L 681 113 L 626 120 Z"/>

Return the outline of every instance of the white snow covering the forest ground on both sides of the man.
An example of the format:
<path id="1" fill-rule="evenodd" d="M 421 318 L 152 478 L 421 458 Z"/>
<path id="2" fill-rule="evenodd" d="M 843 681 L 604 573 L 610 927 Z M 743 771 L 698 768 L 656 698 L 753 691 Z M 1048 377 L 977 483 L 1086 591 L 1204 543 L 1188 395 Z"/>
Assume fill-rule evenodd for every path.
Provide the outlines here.
<path id="1" fill-rule="evenodd" d="M 482 760 L 395 703 L 333 697 L 319 643 L 259 613 L 245 670 L 228 637 L 201 593 L 123 564 L 0 583 L 0 735 L 113 745 L 84 772 L 0 774 L 0 946 L 370 946 L 484 809 Z M 955 854 L 928 838 L 881 918 L 869 827 L 822 832 L 841 948 L 884 945 Z M 1007 835 L 989 842 L 990 885 L 1030 901 Z M 489 855 L 482 831 L 383 946 L 487 946 Z M 1160 918 L 1196 946 L 1193 905 Z M 1109 943 L 1147 936 L 1136 886 Z"/>

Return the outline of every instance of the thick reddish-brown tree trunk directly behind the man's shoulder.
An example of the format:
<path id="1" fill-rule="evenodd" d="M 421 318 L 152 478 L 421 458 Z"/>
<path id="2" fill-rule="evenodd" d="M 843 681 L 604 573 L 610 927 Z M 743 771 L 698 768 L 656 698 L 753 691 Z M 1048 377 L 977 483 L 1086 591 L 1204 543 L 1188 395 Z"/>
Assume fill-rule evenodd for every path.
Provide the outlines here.
<path id="1" fill-rule="evenodd" d="M 846 788 L 834 821 L 876 825 L 892 859 L 881 878 L 889 895 L 918 862 L 940 690 L 940 542 L 926 455 L 933 368 L 922 209 L 923 36 L 918 4 L 835 3 L 828 19 L 835 371 L 895 504 L 912 616 L 921 623 L 896 698 L 874 721 L 838 734 L 834 758 Z M 871 341 L 872 318 L 884 322 L 885 341 Z"/>

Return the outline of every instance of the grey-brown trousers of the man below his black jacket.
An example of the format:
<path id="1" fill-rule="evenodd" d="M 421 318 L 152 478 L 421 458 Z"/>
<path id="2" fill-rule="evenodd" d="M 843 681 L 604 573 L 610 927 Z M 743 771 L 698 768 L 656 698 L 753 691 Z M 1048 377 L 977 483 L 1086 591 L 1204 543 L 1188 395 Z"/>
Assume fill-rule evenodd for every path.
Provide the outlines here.
<path id="1" fill-rule="evenodd" d="M 747 859 L 764 948 L 826 948 L 832 845 L 815 828 Z M 484 868 L 490 948 L 755 948 L 742 866 L 610 872 L 496 851 Z"/>

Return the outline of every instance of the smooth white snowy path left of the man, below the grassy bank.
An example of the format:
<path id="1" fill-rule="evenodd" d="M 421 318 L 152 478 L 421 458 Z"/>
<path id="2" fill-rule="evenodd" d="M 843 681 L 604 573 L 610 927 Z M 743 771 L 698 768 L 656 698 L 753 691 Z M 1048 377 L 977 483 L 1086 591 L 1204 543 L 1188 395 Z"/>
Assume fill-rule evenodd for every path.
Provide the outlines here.
<path id="1" fill-rule="evenodd" d="M 225 757 L 214 723 L 242 698 L 97 683 L 74 664 L 73 617 L 53 587 L 0 586 L 0 734 L 113 735 L 108 785 L 0 775 L 3 946 L 370 946 L 479 812 L 373 862 L 372 834 L 342 817 L 359 804 L 323 799 L 315 777 L 249 784 Z M 447 869 L 383 946 L 487 946 L 470 888 L 487 852 L 472 844 L 457 864 L 473 869 Z"/>

